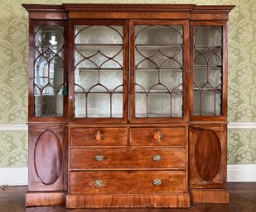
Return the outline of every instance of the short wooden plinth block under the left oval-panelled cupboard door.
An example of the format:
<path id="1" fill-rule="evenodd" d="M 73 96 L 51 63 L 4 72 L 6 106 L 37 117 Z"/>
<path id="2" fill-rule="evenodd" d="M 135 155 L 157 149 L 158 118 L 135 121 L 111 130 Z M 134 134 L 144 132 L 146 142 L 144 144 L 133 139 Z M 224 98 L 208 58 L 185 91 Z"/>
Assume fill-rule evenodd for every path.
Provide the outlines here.
<path id="1" fill-rule="evenodd" d="M 65 205 L 66 192 L 28 192 L 26 206 Z"/>

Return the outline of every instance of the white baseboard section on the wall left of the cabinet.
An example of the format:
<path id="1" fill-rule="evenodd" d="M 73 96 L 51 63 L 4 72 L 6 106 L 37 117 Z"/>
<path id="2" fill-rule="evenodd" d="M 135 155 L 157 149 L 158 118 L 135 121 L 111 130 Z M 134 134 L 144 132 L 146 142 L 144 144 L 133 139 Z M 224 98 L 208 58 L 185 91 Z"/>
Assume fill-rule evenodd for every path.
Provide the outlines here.
<path id="1" fill-rule="evenodd" d="M 0 167 L 0 186 L 27 185 L 27 167 Z"/>

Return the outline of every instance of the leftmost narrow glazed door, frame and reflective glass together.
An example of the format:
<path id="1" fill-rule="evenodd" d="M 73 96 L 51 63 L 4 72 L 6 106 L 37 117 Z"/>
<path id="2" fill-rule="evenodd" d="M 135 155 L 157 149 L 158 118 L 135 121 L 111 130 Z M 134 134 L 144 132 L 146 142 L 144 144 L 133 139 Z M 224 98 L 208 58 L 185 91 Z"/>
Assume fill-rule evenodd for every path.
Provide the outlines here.
<path id="1" fill-rule="evenodd" d="M 30 21 L 29 121 L 67 117 L 67 22 Z"/>

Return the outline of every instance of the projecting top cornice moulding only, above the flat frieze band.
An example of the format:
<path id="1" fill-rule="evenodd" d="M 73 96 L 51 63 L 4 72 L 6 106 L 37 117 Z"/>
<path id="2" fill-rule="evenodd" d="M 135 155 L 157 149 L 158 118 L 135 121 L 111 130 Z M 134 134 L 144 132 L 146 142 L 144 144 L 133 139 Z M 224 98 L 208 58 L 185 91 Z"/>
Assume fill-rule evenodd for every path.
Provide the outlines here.
<path id="1" fill-rule="evenodd" d="M 66 13 L 66 12 L 189 12 L 227 13 L 234 5 L 196 4 L 120 4 L 120 3 L 63 3 L 63 4 L 22 4 L 27 12 Z"/>

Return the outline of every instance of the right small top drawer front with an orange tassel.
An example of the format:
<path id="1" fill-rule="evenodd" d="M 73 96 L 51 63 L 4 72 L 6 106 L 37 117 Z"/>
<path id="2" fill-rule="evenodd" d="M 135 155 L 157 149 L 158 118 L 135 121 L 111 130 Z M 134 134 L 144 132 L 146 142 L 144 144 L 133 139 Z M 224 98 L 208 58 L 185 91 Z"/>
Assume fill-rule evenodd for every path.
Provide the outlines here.
<path id="1" fill-rule="evenodd" d="M 141 146 L 186 146 L 186 128 L 131 128 L 130 144 Z"/>

